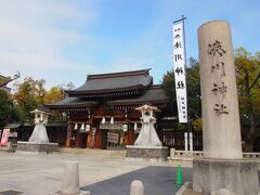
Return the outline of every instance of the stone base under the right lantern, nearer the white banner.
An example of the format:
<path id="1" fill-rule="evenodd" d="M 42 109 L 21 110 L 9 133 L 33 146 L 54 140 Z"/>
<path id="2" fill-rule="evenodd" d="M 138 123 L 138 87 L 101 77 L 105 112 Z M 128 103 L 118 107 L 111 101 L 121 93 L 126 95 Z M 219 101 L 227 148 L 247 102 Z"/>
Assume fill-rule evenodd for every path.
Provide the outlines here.
<path id="1" fill-rule="evenodd" d="M 168 156 L 169 150 L 165 146 L 127 145 L 127 159 L 165 161 Z"/>

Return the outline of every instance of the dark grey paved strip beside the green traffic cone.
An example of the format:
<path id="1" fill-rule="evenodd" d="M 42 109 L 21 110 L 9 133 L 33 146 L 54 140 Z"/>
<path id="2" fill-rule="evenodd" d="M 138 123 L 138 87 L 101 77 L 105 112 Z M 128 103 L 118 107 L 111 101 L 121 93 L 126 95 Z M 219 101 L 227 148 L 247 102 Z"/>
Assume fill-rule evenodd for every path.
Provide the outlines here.
<path id="1" fill-rule="evenodd" d="M 183 180 L 191 182 L 191 168 L 183 168 Z M 150 166 L 116 178 L 81 187 L 93 195 L 129 195 L 133 180 L 141 180 L 145 195 L 173 195 L 180 186 L 176 184 L 177 167 Z"/>

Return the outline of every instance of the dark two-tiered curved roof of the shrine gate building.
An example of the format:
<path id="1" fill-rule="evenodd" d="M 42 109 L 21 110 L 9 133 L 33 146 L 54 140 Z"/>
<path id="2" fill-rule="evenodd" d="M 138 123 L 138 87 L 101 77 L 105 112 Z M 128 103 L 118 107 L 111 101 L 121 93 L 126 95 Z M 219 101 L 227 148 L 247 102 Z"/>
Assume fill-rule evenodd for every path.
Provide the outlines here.
<path id="1" fill-rule="evenodd" d="M 91 106 L 166 105 L 170 99 L 161 86 L 153 86 L 150 69 L 90 75 L 83 86 L 66 91 L 69 98 L 46 105 L 50 109 L 88 109 Z"/>

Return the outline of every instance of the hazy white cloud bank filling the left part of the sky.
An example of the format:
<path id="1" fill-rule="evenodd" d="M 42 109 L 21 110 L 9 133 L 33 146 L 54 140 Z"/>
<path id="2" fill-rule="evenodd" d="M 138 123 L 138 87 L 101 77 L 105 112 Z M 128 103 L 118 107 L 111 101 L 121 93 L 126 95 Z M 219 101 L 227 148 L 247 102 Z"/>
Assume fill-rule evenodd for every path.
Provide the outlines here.
<path id="1" fill-rule="evenodd" d="M 65 47 L 76 44 L 86 35 L 78 28 L 95 21 L 94 4 L 80 5 L 66 0 L 0 1 L 0 72 L 48 80 L 48 87 L 64 82 L 68 74 L 93 72 L 94 66 L 69 62 Z M 58 75 L 60 74 L 60 75 Z M 56 76 L 53 77 L 53 76 Z"/>

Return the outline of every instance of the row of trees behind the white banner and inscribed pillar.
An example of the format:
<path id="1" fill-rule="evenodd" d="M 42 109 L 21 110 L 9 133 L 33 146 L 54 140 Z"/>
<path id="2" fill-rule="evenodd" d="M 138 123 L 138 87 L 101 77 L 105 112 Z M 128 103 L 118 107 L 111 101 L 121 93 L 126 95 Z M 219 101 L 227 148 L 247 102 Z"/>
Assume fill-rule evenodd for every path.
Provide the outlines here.
<path id="1" fill-rule="evenodd" d="M 246 49 L 238 48 L 234 53 L 243 140 L 246 141 L 248 151 L 256 151 L 253 143 L 256 146 L 260 141 L 260 52 L 252 55 Z M 190 116 L 195 129 L 200 129 L 203 123 L 199 118 L 202 109 L 198 69 L 198 62 L 191 58 L 186 69 L 187 100 Z M 177 105 L 173 70 L 164 76 L 162 86 Z"/>

